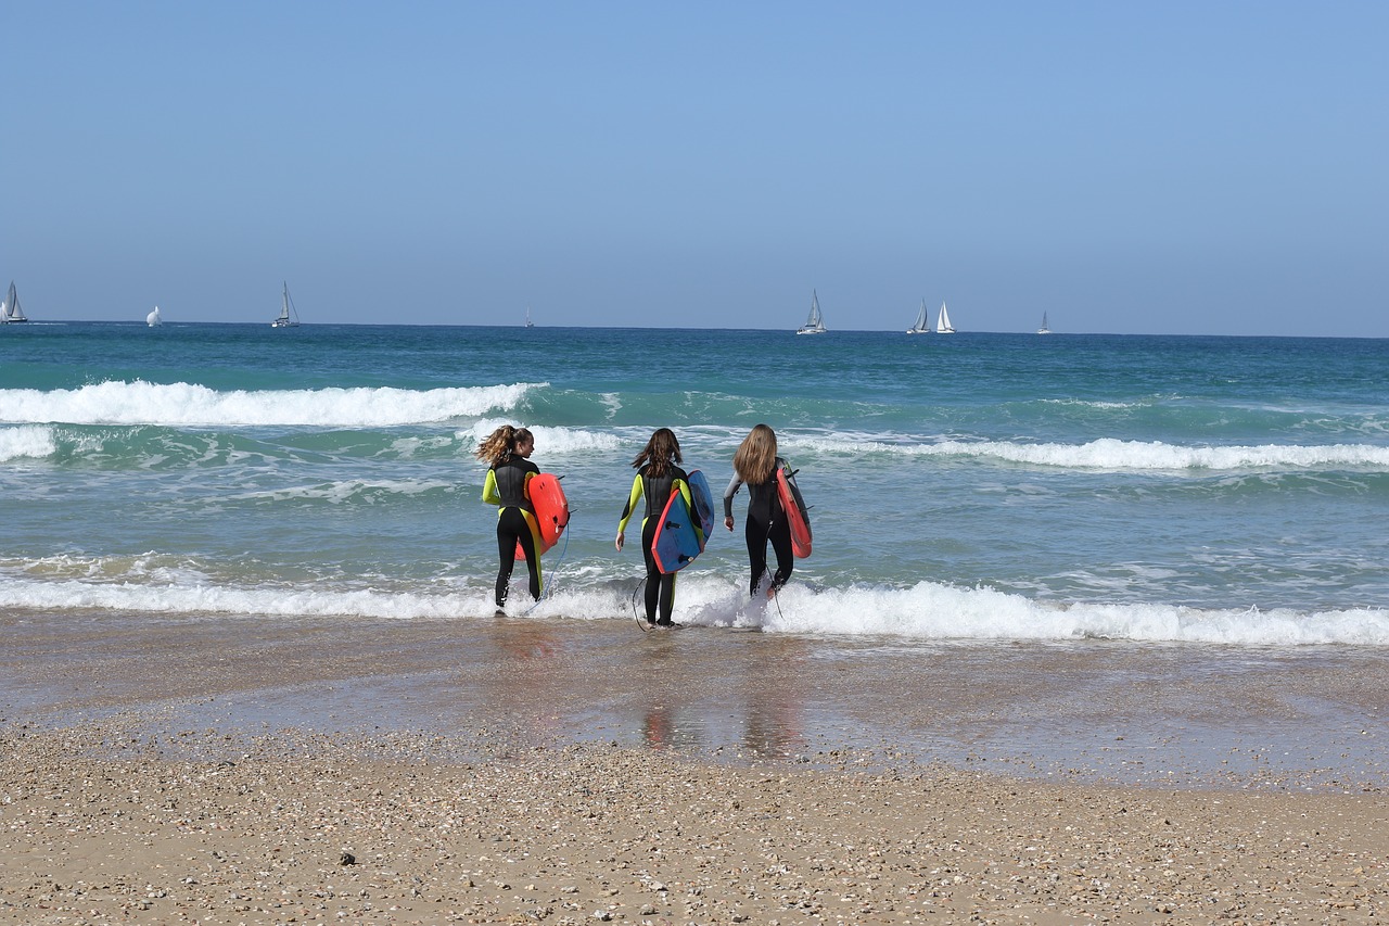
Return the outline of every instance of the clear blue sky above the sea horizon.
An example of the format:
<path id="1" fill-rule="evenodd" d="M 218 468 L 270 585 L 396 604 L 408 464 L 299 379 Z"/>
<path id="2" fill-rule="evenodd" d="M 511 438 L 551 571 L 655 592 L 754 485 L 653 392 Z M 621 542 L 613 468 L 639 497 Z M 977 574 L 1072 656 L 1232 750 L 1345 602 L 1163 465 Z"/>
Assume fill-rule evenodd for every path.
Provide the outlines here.
<path id="1" fill-rule="evenodd" d="M 1389 3 L 0 0 L 32 318 L 1389 336 Z"/>

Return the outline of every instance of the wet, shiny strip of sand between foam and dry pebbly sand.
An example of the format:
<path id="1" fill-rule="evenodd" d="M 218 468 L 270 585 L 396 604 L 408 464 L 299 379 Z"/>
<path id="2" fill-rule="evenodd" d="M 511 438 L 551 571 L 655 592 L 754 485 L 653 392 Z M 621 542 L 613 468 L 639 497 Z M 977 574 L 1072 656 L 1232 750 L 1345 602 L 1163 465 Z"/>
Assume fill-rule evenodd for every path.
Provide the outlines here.
<path id="1" fill-rule="evenodd" d="M 1206 790 L 1389 786 L 1389 653 L 922 644 L 631 622 L 0 615 L 7 723 L 674 747 L 728 763 L 943 763 Z M 450 758 L 450 756 L 440 756 Z"/>

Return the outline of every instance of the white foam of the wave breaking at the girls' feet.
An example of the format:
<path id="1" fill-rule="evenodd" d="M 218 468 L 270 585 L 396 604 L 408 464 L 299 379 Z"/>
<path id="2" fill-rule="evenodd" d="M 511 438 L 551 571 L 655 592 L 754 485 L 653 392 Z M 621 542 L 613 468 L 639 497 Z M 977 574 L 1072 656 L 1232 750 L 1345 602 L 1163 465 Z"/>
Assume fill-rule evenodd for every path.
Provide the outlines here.
<path id="1" fill-rule="evenodd" d="M 194 567 L 158 567 L 140 558 L 119 567 L 68 564 L 57 574 L 0 577 L 0 608 L 108 609 L 122 613 L 268 615 L 285 619 L 485 617 L 490 587 L 410 590 L 231 587 Z M 536 619 L 631 620 L 629 584 L 592 584 L 589 577 L 551 577 L 551 594 L 529 610 Z M 518 608 L 517 613 L 525 610 Z M 920 583 L 910 588 L 813 588 L 792 583 L 772 602 L 749 599 L 739 584 L 692 576 L 681 584 L 676 619 L 708 627 L 757 627 L 765 633 L 879 635 L 901 641 L 1082 641 L 1224 645 L 1389 647 L 1389 612 L 1343 609 L 1201 610 L 1164 603 L 1103 605 L 1038 602 L 989 588 Z"/>

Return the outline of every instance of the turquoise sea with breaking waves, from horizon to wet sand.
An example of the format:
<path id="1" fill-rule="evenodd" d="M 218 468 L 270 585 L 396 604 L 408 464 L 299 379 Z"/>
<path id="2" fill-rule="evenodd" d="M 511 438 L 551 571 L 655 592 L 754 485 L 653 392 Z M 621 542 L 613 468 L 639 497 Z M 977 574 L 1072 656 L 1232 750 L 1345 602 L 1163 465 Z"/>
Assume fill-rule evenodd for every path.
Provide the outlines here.
<path id="1" fill-rule="evenodd" d="M 517 423 L 574 510 L 531 616 L 631 620 L 632 456 L 672 427 L 718 492 L 765 421 L 815 552 L 749 602 L 740 498 L 679 620 L 1389 645 L 1386 385 L 1368 339 L 14 325 L 0 605 L 486 617 L 472 450 Z"/>

